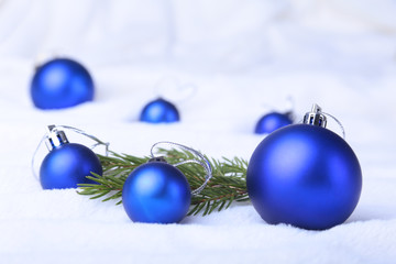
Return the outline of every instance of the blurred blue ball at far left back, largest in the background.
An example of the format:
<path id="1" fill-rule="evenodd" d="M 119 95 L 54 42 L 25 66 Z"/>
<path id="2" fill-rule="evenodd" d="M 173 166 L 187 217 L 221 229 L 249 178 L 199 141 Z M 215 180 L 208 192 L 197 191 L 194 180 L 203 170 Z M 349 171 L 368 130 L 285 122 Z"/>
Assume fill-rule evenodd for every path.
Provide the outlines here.
<path id="1" fill-rule="evenodd" d="M 69 108 L 94 99 L 94 81 L 79 63 L 56 58 L 37 68 L 31 96 L 40 109 Z"/>

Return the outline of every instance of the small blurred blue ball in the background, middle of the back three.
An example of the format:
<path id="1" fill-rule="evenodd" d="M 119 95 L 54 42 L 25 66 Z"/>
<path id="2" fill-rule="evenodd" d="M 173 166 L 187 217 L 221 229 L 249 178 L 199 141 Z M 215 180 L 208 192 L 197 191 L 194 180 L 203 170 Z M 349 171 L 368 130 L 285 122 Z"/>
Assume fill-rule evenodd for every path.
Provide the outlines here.
<path id="1" fill-rule="evenodd" d="M 176 107 L 162 98 L 148 102 L 140 116 L 140 121 L 148 123 L 172 123 L 179 120 Z"/>

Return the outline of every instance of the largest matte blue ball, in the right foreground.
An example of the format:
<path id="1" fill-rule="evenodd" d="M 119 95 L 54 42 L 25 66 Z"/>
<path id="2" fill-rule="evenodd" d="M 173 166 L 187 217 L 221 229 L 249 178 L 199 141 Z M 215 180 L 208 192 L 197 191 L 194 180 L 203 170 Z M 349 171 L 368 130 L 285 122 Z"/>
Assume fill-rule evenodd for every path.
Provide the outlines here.
<path id="1" fill-rule="evenodd" d="M 356 155 L 338 134 L 294 124 L 258 144 L 248 166 L 246 185 L 266 222 L 323 230 L 353 212 L 362 172 Z"/>

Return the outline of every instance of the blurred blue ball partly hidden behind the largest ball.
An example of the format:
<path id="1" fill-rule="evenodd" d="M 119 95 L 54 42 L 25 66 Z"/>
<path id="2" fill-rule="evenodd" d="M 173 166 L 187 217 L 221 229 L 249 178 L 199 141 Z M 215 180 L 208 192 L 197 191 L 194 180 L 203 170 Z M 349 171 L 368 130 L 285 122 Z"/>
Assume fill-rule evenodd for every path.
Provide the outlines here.
<path id="1" fill-rule="evenodd" d="M 272 112 L 262 117 L 254 130 L 256 134 L 270 134 L 277 129 L 292 124 L 293 120 L 287 113 Z"/>

